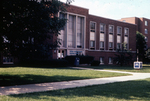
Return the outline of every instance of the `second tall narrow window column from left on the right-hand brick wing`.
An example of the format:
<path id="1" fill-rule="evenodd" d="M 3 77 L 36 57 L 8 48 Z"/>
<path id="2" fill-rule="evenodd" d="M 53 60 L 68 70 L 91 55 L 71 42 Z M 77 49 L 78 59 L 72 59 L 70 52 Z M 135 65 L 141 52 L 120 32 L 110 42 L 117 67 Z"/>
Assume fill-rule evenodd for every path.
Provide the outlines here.
<path id="1" fill-rule="evenodd" d="M 105 24 L 100 24 L 100 50 L 104 50 Z"/>

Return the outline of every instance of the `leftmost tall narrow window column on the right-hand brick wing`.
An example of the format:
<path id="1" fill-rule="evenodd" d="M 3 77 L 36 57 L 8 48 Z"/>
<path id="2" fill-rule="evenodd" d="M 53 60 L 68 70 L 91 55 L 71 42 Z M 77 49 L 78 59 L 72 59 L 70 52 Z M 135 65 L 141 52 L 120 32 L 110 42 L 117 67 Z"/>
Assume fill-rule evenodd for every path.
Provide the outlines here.
<path id="1" fill-rule="evenodd" d="M 90 22 L 90 49 L 95 49 L 95 23 Z"/>

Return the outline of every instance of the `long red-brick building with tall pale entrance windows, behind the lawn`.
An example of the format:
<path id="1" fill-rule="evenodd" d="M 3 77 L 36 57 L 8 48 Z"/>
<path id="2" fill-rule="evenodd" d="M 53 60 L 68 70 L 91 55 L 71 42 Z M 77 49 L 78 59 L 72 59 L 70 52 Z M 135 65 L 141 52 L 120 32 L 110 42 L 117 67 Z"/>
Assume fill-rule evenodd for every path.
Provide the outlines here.
<path id="1" fill-rule="evenodd" d="M 101 64 L 113 64 L 116 49 L 122 49 L 122 43 L 128 50 L 136 53 L 137 24 L 103 18 L 89 14 L 89 10 L 70 5 L 67 12 L 58 16 L 68 19 L 61 30 L 61 46 L 53 58 L 67 55 L 89 55 Z"/>

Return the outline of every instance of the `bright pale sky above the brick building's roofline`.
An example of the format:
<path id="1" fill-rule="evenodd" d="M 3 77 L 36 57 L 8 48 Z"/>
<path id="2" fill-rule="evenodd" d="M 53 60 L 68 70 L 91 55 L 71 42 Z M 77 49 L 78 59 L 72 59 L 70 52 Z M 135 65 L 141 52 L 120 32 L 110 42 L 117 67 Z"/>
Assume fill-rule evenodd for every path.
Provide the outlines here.
<path id="1" fill-rule="evenodd" d="M 89 14 L 115 20 L 125 17 L 150 19 L 150 0 L 74 0 L 71 5 L 87 8 Z"/>

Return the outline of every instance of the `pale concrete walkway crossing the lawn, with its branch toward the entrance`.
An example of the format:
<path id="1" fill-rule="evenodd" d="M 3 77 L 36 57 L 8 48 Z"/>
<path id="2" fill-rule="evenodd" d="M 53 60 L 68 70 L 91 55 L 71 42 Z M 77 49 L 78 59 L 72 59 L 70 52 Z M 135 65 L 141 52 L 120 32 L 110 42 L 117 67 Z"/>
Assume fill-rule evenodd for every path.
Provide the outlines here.
<path id="1" fill-rule="evenodd" d="M 79 68 L 79 67 L 73 67 L 73 68 L 89 69 L 89 68 Z M 97 69 L 91 69 L 91 70 L 97 70 Z M 123 81 L 150 78 L 150 73 L 131 73 L 131 72 L 120 72 L 120 71 L 112 71 L 112 70 L 97 70 L 97 71 L 129 73 L 132 75 L 120 76 L 120 77 L 108 77 L 108 78 L 96 78 L 96 79 L 86 79 L 86 80 L 73 80 L 73 81 L 64 81 L 64 82 L 52 82 L 52 83 L 40 83 L 40 84 L 28 84 L 28 85 L 0 87 L 0 95 L 43 92 L 43 91 L 50 91 L 50 90 L 76 88 L 76 87 L 84 87 L 84 86 L 91 86 L 91 85 L 99 85 L 99 84 L 107 84 L 107 83 L 114 83 L 114 82 L 123 82 Z"/>

